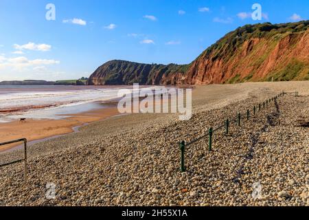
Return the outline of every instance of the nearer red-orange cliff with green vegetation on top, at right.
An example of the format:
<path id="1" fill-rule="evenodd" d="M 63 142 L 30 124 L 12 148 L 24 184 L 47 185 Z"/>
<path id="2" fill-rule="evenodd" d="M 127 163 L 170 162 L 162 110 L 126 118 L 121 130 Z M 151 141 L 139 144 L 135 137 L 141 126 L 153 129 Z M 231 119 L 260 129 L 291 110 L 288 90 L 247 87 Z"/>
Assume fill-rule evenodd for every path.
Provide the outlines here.
<path id="1" fill-rule="evenodd" d="M 238 28 L 192 63 L 185 74 L 185 83 L 309 80 L 308 24 Z"/>

